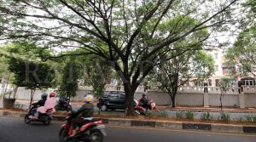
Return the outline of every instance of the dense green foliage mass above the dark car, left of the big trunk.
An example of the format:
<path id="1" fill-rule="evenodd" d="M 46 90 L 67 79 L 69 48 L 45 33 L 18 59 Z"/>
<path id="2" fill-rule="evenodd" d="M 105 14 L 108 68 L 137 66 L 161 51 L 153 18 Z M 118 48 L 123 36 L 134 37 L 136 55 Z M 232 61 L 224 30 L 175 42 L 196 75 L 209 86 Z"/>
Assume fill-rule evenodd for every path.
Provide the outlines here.
<path id="1" fill-rule="evenodd" d="M 61 54 L 68 53 L 70 52 L 62 52 Z M 81 50 L 77 49 L 72 53 L 79 54 Z M 92 54 L 76 57 L 64 56 L 53 60 L 57 66 L 64 66 L 64 68 L 58 71 L 60 76 L 58 79 L 60 84 L 59 94 L 67 98 L 75 96 L 75 91 L 79 88 L 79 85 L 92 86 L 92 94 L 96 95 L 97 98 L 101 97 L 104 94 L 105 85 L 113 77 L 110 65 Z M 71 77 L 73 81 L 70 81 Z"/>

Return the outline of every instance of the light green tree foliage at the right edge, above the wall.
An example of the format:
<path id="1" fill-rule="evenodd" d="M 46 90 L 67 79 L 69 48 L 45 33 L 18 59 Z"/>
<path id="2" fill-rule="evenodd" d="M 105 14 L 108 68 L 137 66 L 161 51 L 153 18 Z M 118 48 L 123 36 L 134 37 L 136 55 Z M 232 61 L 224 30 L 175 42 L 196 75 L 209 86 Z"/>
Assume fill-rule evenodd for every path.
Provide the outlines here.
<path id="1" fill-rule="evenodd" d="M 229 48 L 226 57 L 227 68 L 235 76 L 255 76 L 256 72 L 256 25 L 242 31 L 236 43 Z"/>

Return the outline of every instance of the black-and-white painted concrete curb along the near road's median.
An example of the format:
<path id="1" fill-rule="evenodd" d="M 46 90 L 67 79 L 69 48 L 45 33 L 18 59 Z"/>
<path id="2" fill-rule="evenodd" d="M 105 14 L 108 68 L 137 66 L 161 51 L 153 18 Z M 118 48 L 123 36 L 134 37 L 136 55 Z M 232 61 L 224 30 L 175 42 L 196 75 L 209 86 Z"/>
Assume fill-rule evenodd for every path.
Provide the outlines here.
<path id="1" fill-rule="evenodd" d="M 23 118 L 26 112 L 0 111 L 0 116 Z M 65 121 L 66 116 L 53 115 L 54 121 Z M 233 125 L 201 122 L 166 122 L 148 121 L 122 118 L 103 118 L 103 123 L 109 126 L 122 127 L 143 127 L 143 128 L 163 128 L 175 130 L 203 130 L 218 133 L 250 133 L 256 134 L 256 125 Z"/>

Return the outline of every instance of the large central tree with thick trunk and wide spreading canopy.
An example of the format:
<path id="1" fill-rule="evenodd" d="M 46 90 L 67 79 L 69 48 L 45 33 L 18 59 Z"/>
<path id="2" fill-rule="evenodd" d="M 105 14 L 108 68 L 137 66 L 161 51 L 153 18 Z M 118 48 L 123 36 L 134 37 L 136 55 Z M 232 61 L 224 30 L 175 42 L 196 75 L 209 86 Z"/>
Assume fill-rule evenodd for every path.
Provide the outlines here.
<path id="1" fill-rule="evenodd" d="M 3 39 L 29 40 L 44 48 L 82 48 L 83 53 L 66 55 L 95 54 L 106 60 L 122 79 L 126 114 L 131 116 L 137 87 L 159 57 L 174 50 L 184 53 L 193 49 L 195 43 L 187 48 L 170 47 L 196 31 L 221 31 L 232 21 L 232 6 L 237 1 L 0 0 L 0 32 Z M 177 16 L 183 18 L 173 18 Z M 168 20 L 170 17 L 174 21 Z M 195 20 L 188 17 L 194 17 L 196 24 L 191 26 Z"/>

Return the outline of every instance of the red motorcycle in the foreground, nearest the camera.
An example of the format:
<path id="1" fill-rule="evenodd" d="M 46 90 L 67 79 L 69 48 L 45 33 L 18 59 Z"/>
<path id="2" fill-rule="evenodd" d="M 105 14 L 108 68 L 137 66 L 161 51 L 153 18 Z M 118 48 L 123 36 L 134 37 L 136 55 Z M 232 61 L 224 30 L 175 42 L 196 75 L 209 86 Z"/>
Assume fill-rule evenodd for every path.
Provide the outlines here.
<path id="1" fill-rule="evenodd" d="M 59 132 L 59 139 L 61 142 L 71 141 L 88 141 L 88 142 L 102 142 L 103 137 L 107 134 L 104 131 L 105 126 L 102 124 L 102 118 L 92 118 L 90 122 L 84 123 L 73 137 L 69 137 L 73 128 L 71 121 L 76 115 L 72 112 L 66 117 L 66 123 L 61 125 Z"/>

